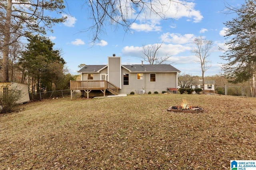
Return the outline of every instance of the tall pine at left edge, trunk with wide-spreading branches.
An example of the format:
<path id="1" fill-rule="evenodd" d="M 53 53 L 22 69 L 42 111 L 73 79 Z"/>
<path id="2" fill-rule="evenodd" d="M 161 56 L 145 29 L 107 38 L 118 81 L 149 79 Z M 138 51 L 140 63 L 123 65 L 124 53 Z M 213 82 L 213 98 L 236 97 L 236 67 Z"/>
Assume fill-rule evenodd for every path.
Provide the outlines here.
<path id="1" fill-rule="evenodd" d="M 64 17 L 52 18 L 46 10 L 60 14 L 65 8 L 63 0 L 1 0 L 0 1 L 0 35 L 3 53 L 3 80 L 9 81 L 9 47 L 22 36 L 29 33 L 46 33 L 52 31 L 54 23 L 63 22 Z M 16 37 L 12 41 L 12 37 Z"/>

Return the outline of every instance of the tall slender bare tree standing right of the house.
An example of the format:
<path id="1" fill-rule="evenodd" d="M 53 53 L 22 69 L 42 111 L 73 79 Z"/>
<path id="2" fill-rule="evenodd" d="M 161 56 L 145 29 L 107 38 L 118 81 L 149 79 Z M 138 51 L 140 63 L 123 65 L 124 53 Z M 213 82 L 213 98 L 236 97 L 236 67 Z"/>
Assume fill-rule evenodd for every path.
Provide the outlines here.
<path id="1" fill-rule="evenodd" d="M 192 53 L 196 55 L 199 59 L 201 71 L 202 71 L 202 85 L 203 85 L 203 94 L 204 92 L 204 73 L 211 67 L 211 61 L 208 60 L 210 56 L 210 49 L 212 48 L 213 42 L 210 40 L 203 39 L 201 36 L 195 38 L 193 43 L 196 45 L 196 48 L 192 50 Z"/>

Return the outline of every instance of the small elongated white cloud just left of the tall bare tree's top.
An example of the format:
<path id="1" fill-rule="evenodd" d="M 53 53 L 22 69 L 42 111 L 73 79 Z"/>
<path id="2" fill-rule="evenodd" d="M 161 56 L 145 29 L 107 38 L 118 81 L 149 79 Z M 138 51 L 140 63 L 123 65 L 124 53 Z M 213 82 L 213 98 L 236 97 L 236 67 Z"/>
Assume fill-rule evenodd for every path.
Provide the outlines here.
<path id="1" fill-rule="evenodd" d="M 186 44 L 193 40 L 194 34 L 164 33 L 160 38 L 166 43 Z"/>

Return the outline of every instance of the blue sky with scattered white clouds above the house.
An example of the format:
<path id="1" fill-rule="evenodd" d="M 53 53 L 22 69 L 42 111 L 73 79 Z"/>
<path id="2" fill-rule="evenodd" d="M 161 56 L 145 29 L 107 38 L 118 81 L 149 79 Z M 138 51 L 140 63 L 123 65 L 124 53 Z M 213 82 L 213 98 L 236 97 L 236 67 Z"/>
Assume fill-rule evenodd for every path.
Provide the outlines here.
<path id="1" fill-rule="evenodd" d="M 78 74 L 79 64 L 107 64 L 107 57 L 116 54 L 122 57 L 122 64 L 141 64 L 142 46 L 164 42 L 159 55 L 172 55 L 170 62 L 182 73 L 201 76 L 200 64 L 191 52 L 195 37 L 202 36 L 213 41 L 209 60 L 212 66 L 205 72 L 206 76 L 220 74 L 220 59 L 224 47 L 224 22 L 235 15 L 224 14 L 225 4 L 240 8 L 244 0 L 187 0 L 184 6 L 174 6 L 166 13 L 170 20 L 162 20 L 151 16 L 144 21 L 139 17 L 132 25 L 132 31 L 126 33 L 122 27 L 106 27 L 106 32 L 100 36 L 100 41 L 91 44 L 90 31 L 84 31 L 92 26 L 90 11 L 84 0 L 67 0 L 66 12 L 70 14 L 65 23 L 56 24 L 54 33 L 48 33 L 56 49 L 62 49 L 62 57 L 71 74 Z M 178 9 L 178 10 L 177 10 Z M 224 47 L 225 48 L 225 47 Z M 144 62 L 144 64 L 147 64 Z"/>

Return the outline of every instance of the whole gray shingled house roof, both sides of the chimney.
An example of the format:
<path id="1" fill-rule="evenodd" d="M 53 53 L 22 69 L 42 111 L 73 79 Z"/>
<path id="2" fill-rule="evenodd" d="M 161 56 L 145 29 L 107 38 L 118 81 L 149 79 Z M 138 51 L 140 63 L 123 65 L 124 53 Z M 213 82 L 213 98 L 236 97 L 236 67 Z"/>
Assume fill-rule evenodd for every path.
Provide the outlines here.
<path id="1" fill-rule="evenodd" d="M 78 72 L 98 72 L 107 65 L 86 65 L 81 68 Z M 131 72 L 180 72 L 174 66 L 170 64 L 133 64 L 133 65 L 122 65 Z"/>

